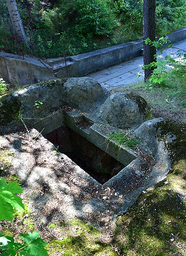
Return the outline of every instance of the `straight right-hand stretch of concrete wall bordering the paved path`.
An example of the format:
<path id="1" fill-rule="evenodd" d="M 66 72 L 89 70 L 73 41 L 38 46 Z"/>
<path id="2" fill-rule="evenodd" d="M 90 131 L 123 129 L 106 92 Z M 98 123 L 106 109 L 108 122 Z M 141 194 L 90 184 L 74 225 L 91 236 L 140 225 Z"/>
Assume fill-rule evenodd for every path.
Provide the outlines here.
<path id="1" fill-rule="evenodd" d="M 176 30 L 167 36 L 173 44 L 184 40 L 186 39 L 186 28 Z M 143 40 L 138 40 L 71 56 L 71 59 L 75 61 L 77 76 L 85 76 L 87 73 L 137 57 L 141 55 L 142 48 Z"/>

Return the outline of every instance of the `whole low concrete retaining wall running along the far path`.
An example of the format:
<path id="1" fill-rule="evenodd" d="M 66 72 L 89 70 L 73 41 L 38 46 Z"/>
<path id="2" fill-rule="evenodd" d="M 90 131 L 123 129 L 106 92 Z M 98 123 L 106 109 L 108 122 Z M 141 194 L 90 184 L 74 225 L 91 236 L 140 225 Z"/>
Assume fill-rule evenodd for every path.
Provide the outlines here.
<path id="1" fill-rule="evenodd" d="M 168 34 L 169 40 L 174 44 L 186 39 L 186 28 Z M 68 57 L 68 76 L 85 76 L 87 73 L 120 63 L 141 55 L 143 41 L 132 41 L 112 47 L 87 52 Z M 57 64 L 56 64 L 57 62 Z M 57 67 L 57 68 L 56 68 Z M 59 67 L 59 68 L 58 68 Z M 37 58 L 20 57 L 18 55 L 0 53 L 0 77 L 9 82 L 20 84 L 33 84 L 39 81 L 54 79 L 56 72 L 58 78 L 67 76 L 64 58 L 50 58 L 43 65 Z"/>

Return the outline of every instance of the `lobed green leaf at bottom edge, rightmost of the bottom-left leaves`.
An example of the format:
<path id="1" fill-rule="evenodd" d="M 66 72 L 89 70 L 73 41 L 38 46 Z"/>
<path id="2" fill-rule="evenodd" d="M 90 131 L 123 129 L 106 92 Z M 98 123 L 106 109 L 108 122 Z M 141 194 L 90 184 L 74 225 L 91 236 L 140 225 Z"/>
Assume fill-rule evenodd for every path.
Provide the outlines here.
<path id="1" fill-rule="evenodd" d="M 39 237 L 37 231 L 34 233 L 29 232 L 27 236 L 21 233 L 20 236 L 27 244 L 26 252 L 31 253 L 33 256 L 48 256 L 48 253 L 44 248 L 47 243 Z"/>

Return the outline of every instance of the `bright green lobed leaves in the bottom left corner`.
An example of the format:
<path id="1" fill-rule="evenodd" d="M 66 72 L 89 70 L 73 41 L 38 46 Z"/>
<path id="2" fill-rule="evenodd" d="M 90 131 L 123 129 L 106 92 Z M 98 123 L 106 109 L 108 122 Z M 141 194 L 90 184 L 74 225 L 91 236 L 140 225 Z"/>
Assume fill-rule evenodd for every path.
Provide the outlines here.
<path id="1" fill-rule="evenodd" d="M 17 185 L 16 182 L 6 183 L 2 177 L 0 177 L 0 220 L 6 219 L 8 221 L 13 220 L 14 212 L 17 210 L 23 210 L 24 205 L 22 199 L 16 194 L 23 192 L 23 189 Z M 45 250 L 46 242 L 39 237 L 39 233 L 28 233 L 24 235 L 20 233 L 22 243 L 15 242 L 11 236 L 3 236 L 0 234 L 0 249 L 5 251 L 1 253 L 2 256 L 48 256 Z"/>

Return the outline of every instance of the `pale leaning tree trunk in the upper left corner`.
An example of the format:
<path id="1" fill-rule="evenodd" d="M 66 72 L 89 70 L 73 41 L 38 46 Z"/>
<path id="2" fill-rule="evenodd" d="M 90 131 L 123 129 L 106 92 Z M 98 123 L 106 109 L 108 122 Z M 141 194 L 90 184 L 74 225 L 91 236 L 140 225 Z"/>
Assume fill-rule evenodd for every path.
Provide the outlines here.
<path id="1" fill-rule="evenodd" d="M 6 0 L 8 12 L 11 17 L 11 23 L 14 29 L 14 35 L 18 43 L 24 42 L 28 45 L 28 41 L 25 35 L 23 24 L 21 21 L 20 13 L 17 8 L 16 0 Z"/>

